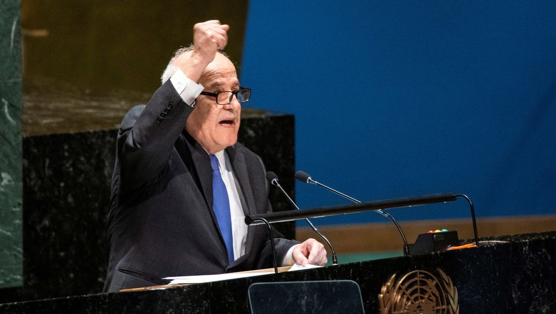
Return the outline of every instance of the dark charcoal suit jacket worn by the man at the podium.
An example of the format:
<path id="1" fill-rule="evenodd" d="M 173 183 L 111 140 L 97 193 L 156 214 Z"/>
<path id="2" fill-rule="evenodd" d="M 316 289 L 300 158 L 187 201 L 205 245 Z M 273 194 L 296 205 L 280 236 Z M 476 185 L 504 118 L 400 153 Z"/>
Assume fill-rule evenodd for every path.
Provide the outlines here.
<path id="1" fill-rule="evenodd" d="M 161 278 L 272 267 L 264 225 L 249 226 L 246 253 L 228 265 L 212 211 L 210 158 L 184 130 L 192 108 L 171 82 L 123 118 L 108 214 L 110 256 L 105 291 L 167 283 Z M 271 210 L 259 156 L 226 149 L 245 214 Z M 274 231 L 277 261 L 294 244 Z"/>

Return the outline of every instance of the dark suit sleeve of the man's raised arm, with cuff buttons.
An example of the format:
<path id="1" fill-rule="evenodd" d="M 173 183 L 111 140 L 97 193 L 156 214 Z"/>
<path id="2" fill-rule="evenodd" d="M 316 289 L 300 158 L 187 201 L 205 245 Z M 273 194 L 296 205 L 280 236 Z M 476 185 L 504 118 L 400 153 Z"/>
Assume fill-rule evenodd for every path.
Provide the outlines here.
<path id="1" fill-rule="evenodd" d="M 168 80 L 146 106 L 126 114 L 117 139 L 124 192 L 150 185 L 163 174 L 192 110 Z"/>

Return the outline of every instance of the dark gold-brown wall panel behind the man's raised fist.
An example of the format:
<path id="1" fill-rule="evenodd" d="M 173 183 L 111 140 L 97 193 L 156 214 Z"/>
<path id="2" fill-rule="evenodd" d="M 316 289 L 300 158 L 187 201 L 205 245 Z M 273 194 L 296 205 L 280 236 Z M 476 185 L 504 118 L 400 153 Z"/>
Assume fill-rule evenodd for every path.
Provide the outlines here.
<path id="1" fill-rule="evenodd" d="M 153 92 L 173 51 L 192 42 L 192 26 L 231 25 L 226 47 L 241 60 L 247 1 L 68 1 L 22 3 L 24 89 L 36 77 L 69 82 L 93 95 Z"/>

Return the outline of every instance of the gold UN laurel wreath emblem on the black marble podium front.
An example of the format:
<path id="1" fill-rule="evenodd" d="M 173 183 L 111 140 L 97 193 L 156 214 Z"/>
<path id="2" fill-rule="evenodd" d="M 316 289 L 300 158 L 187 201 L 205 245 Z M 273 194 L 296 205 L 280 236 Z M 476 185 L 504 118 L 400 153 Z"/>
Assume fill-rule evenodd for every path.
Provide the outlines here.
<path id="1" fill-rule="evenodd" d="M 380 290 L 381 314 L 459 314 L 458 289 L 441 269 L 440 280 L 423 270 L 406 273 L 398 281 L 390 276 Z"/>

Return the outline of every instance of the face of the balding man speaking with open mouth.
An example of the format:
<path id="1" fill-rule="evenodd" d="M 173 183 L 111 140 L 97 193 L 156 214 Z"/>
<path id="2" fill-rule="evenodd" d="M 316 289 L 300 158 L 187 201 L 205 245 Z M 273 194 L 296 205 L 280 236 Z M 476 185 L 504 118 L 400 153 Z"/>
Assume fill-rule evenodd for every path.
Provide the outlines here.
<path id="1" fill-rule="evenodd" d="M 228 58 L 216 53 L 199 83 L 207 92 L 236 91 L 240 88 L 236 68 Z M 186 122 L 186 130 L 209 153 L 216 153 L 237 141 L 241 105 L 236 96 L 228 105 L 216 104 L 213 96 L 199 95 Z"/>

